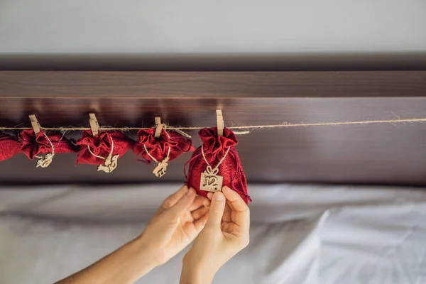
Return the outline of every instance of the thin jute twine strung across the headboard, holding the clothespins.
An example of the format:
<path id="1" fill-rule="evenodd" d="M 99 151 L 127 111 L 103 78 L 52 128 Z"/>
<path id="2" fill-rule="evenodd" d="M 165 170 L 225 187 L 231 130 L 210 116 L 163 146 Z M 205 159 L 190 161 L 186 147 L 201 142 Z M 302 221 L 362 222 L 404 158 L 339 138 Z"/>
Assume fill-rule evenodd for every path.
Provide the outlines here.
<path id="1" fill-rule="evenodd" d="M 246 125 L 246 126 L 229 126 L 228 129 L 236 129 L 234 131 L 236 134 L 246 134 L 250 130 L 254 129 L 279 129 L 279 128 L 289 128 L 289 127 L 307 127 L 307 126 L 338 126 L 338 125 L 364 125 L 364 124 L 398 124 L 398 123 L 412 123 L 412 122 L 426 122 L 426 118 L 422 119 L 389 119 L 389 120 L 366 120 L 366 121 L 337 121 L 337 122 L 320 122 L 315 124 L 290 124 L 284 122 L 283 124 L 265 124 L 265 125 Z M 182 130 L 199 130 L 204 129 L 206 126 L 165 126 L 170 130 L 182 131 Z M 32 129 L 31 127 L 4 127 L 1 126 L 0 130 L 26 130 Z M 136 131 L 140 129 L 152 129 L 152 127 L 110 127 L 102 126 L 99 127 L 99 130 L 103 131 Z M 43 130 L 48 131 L 82 131 L 90 130 L 89 127 L 43 127 Z M 241 131 L 238 131 L 241 130 Z"/>

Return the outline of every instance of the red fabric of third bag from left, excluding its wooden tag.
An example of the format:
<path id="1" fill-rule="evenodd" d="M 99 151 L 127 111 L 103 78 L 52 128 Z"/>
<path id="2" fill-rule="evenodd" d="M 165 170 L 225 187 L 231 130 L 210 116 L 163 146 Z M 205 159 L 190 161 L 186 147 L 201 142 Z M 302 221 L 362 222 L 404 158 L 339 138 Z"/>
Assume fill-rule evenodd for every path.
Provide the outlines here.
<path id="1" fill-rule="evenodd" d="M 77 140 L 80 151 L 77 153 L 76 163 L 102 165 L 104 159 L 97 158 L 94 155 L 107 158 L 111 153 L 111 138 L 114 141 L 112 155 L 119 155 L 119 158 L 133 147 L 133 141 L 121 132 L 100 131 L 97 136 L 92 136 L 92 131 L 82 131 L 82 138 Z M 94 155 L 90 153 L 87 146 L 90 147 Z"/>

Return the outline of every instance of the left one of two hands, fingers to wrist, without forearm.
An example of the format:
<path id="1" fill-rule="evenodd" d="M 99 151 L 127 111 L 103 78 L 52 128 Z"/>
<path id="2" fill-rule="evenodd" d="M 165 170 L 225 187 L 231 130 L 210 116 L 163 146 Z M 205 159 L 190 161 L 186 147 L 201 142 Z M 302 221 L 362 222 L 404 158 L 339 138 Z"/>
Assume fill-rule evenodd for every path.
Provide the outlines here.
<path id="1" fill-rule="evenodd" d="M 141 246 L 155 255 L 155 263 L 163 264 L 191 243 L 204 228 L 209 209 L 193 188 L 181 187 L 168 197 L 139 236 Z"/>

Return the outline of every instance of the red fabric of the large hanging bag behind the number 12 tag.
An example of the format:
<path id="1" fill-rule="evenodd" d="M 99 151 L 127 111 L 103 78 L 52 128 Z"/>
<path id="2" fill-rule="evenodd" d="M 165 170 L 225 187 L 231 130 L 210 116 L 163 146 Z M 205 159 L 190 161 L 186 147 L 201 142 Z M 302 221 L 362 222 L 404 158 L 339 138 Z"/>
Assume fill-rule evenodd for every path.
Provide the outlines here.
<path id="1" fill-rule="evenodd" d="M 210 129 L 201 129 L 198 135 L 202 141 L 204 156 L 212 168 L 217 166 L 219 161 L 224 157 L 228 147 L 230 147 L 228 155 L 226 155 L 222 164 L 219 165 L 218 175 L 222 175 L 223 177 L 222 186 L 227 186 L 231 190 L 235 190 L 246 203 L 249 203 L 251 198 L 247 192 L 246 175 L 234 147 L 238 143 L 234 132 L 225 128 L 224 135 L 217 136 L 217 127 L 213 127 Z M 207 168 L 207 164 L 202 157 L 201 146 L 195 150 L 187 163 L 190 164 L 190 167 L 188 173 L 185 173 L 185 185 L 195 188 L 198 195 L 207 197 L 208 192 L 200 190 L 201 174 Z"/>

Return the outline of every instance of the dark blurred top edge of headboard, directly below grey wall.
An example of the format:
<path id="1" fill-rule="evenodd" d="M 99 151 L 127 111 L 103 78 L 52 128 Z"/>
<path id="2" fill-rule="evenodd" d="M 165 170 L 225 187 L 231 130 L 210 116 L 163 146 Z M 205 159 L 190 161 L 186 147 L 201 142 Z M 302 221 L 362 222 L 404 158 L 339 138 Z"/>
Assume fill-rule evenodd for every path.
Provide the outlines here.
<path id="1" fill-rule="evenodd" d="M 426 52 L 0 54 L 0 70 L 366 71 L 426 70 Z"/>

